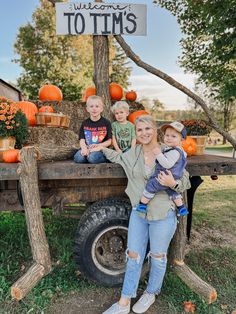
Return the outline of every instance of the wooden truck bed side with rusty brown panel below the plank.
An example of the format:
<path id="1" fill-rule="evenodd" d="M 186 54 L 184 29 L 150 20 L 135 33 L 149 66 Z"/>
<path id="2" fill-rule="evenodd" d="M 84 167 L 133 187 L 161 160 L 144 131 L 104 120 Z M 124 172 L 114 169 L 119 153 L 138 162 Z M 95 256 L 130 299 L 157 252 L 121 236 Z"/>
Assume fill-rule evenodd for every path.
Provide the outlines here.
<path id="1" fill-rule="evenodd" d="M 18 164 L 0 163 L 0 210 L 22 210 L 16 193 Z M 190 176 L 236 174 L 236 159 L 214 155 L 188 157 Z M 126 175 L 118 164 L 76 164 L 72 160 L 38 162 L 42 207 L 59 208 L 125 196 Z"/>

